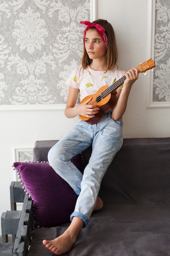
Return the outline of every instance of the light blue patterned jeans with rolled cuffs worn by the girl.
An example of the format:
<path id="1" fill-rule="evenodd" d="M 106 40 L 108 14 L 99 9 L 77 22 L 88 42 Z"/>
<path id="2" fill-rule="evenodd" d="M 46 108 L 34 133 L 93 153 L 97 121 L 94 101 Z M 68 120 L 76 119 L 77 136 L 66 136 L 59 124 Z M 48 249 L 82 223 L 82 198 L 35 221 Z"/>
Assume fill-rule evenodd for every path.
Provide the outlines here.
<path id="1" fill-rule="evenodd" d="M 79 120 L 48 154 L 49 164 L 73 188 L 78 196 L 71 214 L 88 224 L 100 184 L 115 154 L 123 144 L 122 121 L 114 121 L 111 113 L 104 113 L 97 124 Z M 84 174 L 70 161 L 72 157 L 92 145 L 92 154 Z"/>

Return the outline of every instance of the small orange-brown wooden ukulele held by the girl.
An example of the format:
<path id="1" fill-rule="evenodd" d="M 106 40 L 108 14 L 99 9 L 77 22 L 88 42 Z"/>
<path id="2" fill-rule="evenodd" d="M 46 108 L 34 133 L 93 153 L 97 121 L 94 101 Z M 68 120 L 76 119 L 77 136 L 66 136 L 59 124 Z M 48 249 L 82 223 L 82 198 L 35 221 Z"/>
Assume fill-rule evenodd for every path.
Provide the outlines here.
<path id="1" fill-rule="evenodd" d="M 147 70 L 152 69 L 155 67 L 155 62 L 150 58 L 148 61 L 145 61 L 138 65 L 136 68 L 139 70 L 139 72 L 146 72 Z M 113 83 L 111 86 L 104 85 L 102 86 L 95 94 L 88 95 L 82 101 L 80 104 L 84 103 L 88 99 L 92 97 L 92 100 L 88 103 L 89 105 L 97 104 L 100 108 L 99 112 L 95 115 L 95 117 L 84 117 L 82 115 L 79 115 L 79 117 L 83 120 L 88 122 L 89 124 L 96 124 L 99 119 L 102 117 L 104 112 L 108 110 L 109 108 L 113 108 L 116 102 L 116 89 L 121 86 L 124 81 L 126 80 L 126 76 L 123 76 L 121 79 L 119 79 L 117 82 Z"/>

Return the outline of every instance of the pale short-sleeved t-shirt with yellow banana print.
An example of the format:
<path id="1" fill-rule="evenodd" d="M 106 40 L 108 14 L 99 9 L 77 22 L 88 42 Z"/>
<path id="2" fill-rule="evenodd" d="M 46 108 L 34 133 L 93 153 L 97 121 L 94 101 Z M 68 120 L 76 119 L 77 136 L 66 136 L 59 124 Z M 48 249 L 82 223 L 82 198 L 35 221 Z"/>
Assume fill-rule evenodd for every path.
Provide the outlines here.
<path id="1" fill-rule="evenodd" d="M 80 65 L 73 70 L 66 84 L 79 89 L 79 98 L 82 101 L 86 96 L 95 94 L 103 85 L 113 85 L 125 73 L 117 66 L 104 73 L 104 71 L 92 70 L 89 66 L 84 70 Z"/>

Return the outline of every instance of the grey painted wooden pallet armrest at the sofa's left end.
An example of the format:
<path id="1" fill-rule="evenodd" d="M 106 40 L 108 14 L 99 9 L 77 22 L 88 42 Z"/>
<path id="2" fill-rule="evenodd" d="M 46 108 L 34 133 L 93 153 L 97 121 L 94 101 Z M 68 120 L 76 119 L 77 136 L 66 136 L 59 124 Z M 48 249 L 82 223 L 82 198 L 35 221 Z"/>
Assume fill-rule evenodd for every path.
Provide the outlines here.
<path id="1" fill-rule="evenodd" d="M 33 224 L 33 214 L 32 214 L 33 201 L 32 201 L 32 198 L 30 198 L 29 195 L 27 195 L 23 189 L 21 190 L 20 182 L 11 182 L 10 194 L 11 194 L 12 210 L 11 212 L 8 211 L 8 214 L 2 213 L 2 216 L 1 216 L 2 232 L 4 232 L 2 236 L 4 236 L 5 239 L 9 234 L 13 223 L 16 225 L 15 217 L 18 216 L 18 212 L 19 212 L 16 210 L 16 202 L 23 202 L 23 206 L 22 206 L 22 211 L 20 213 L 20 219 L 18 223 L 18 229 L 16 231 L 15 240 L 13 241 L 12 244 L 4 243 L 4 241 L 2 241 L 3 244 L 0 246 L 0 255 L 1 253 L 3 253 L 3 256 L 6 256 L 6 255 L 7 256 L 9 255 L 26 256 L 29 251 L 29 247 L 31 246 L 32 227 L 33 227 L 32 225 Z M 6 223 L 10 223 L 10 227 L 5 227 Z"/>

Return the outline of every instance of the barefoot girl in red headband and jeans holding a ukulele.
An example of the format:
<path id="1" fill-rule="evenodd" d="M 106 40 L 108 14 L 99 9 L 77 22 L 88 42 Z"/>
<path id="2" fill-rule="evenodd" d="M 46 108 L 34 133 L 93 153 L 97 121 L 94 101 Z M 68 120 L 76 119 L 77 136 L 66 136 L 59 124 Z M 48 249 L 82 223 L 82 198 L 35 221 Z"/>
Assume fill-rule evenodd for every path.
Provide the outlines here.
<path id="1" fill-rule="evenodd" d="M 138 79 L 138 70 L 128 72 L 120 70 L 117 63 L 117 45 L 112 25 L 107 20 L 95 20 L 84 31 L 84 53 L 82 65 L 75 68 L 67 84 L 70 86 L 65 115 L 73 118 L 77 115 L 93 119 L 100 108 L 87 99 L 75 105 L 79 93 L 80 100 L 95 94 L 103 85 L 126 76 L 124 85 L 117 89 L 116 103 L 108 109 L 96 124 L 89 124 L 79 119 L 78 123 L 49 151 L 49 164 L 79 195 L 75 211 L 71 214 L 71 224 L 64 234 L 52 241 L 43 240 L 46 248 L 56 255 L 71 250 L 77 234 L 86 227 L 95 210 L 103 207 L 98 197 L 102 178 L 123 143 L 121 117 L 126 110 L 132 84 Z M 89 103 L 89 104 L 88 104 Z M 82 173 L 71 163 L 70 159 L 92 145 L 89 163 Z"/>

